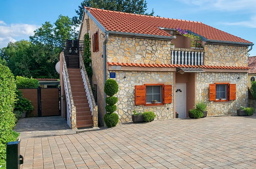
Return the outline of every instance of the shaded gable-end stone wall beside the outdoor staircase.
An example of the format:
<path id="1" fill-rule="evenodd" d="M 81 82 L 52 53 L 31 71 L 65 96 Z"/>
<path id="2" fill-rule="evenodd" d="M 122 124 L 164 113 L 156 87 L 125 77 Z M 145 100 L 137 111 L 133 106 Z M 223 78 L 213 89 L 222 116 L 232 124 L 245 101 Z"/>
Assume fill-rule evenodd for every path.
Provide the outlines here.
<path id="1" fill-rule="evenodd" d="M 104 116 L 104 81 L 103 81 L 103 41 L 104 41 L 104 33 L 102 30 L 97 27 L 97 25 L 91 20 L 87 15 L 85 15 L 83 20 L 83 28 L 81 30 L 80 40 L 84 40 L 84 35 L 89 32 L 91 38 L 91 60 L 92 60 L 92 87 L 97 85 L 97 105 L 98 105 L 98 113 L 99 113 L 99 125 L 103 124 L 103 116 Z M 99 31 L 99 51 L 92 51 L 92 35 Z"/>

